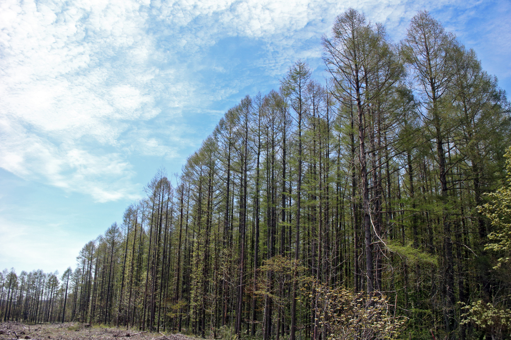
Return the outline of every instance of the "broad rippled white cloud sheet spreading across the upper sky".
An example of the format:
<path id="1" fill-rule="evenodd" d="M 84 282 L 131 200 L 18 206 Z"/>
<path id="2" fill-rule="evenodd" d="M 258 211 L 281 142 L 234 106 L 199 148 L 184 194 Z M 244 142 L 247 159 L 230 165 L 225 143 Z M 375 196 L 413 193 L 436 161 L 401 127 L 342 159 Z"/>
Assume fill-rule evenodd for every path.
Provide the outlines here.
<path id="1" fill-rule="evenodd" d="M 218 115 L 213 104 L 266 79 L 278 83 L 299 58 L 320 67 L 319 37 L 350 6 L 400 39 L 419 9 L 461 7 L 470 16 L 481 3 L 4 0 L 0 166 L 98 201 L 133 197 L 140 188 L 132 183 L 132 154 L 178 157 L 185 144 L 200 144 L 183 112 Z M 463 30 L 464 16 L 443 15 Z M 487 25 L 484 37 L 497 25 Z M 215 60 L 211 48 L 229 37 L 254 42 L 259 56 Z M 233 75 L 234 69 L 260 74 Z"/>

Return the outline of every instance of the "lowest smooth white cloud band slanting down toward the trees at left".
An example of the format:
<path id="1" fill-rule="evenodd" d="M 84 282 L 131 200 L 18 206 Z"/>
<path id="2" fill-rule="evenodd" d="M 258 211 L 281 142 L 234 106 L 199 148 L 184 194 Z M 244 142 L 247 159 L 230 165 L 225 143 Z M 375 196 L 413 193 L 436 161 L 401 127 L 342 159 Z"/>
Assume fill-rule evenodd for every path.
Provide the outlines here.
<path id="1" fill-rule="evenodd" d="M 5 121 L 0 136 L 0 164 L 22 178 L 87 193 L 98 202 L 138 198 L 130 181 L 132 166 L 118 153 L 98 155 L 66 143 L 56 146 Z"/>

